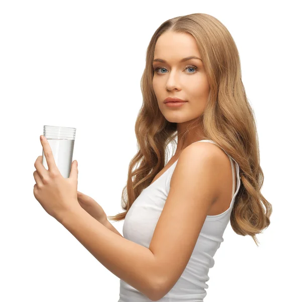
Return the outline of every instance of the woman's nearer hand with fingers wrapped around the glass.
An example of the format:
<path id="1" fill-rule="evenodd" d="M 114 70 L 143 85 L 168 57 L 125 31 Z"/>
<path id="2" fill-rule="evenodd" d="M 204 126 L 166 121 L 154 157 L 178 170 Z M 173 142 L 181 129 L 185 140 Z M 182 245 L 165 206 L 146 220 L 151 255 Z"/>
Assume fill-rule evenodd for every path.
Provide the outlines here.
<path id="1" fill-rule="evenodd" d="M 64 178 L 55 164 L 47 139 L 41 135 L 40 141 L 48 170 L 42 164 L 42 156 L 39 156 L 34 164 L 36 171 L 33 176 L 36 184 L 33 193 L 45 211 L 59 221 L 65 213 L 81 208 L 77 201 L 77 163 L 72 163 L 69 178 Z"/>

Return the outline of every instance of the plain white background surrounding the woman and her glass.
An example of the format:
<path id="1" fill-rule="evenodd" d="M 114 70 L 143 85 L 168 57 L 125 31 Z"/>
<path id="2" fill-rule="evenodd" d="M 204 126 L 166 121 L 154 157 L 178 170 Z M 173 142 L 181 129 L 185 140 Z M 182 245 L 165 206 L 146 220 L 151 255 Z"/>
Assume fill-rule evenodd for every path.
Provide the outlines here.
<path id="1" fill-rule="evenodd" d="M 1 262 L 3 302 L 119 299 L 119 278 L 33 195 L 43 125 L 75 127 L 78 191 L 121 209 L 137 152 L 145 51 L 167 19 L 205 13 L 232 34 L 254 109 L 271 224 L 251 237 L 229 223 L 206 302 L 287 300 L 288 44 L 285 2 L 1 1 Z M 286 28 L 286 29 L 285 29 Z M 122 233 L 123 221 L 113 222 Z M 121 259 L 120 259 L 121 261 Z"/>

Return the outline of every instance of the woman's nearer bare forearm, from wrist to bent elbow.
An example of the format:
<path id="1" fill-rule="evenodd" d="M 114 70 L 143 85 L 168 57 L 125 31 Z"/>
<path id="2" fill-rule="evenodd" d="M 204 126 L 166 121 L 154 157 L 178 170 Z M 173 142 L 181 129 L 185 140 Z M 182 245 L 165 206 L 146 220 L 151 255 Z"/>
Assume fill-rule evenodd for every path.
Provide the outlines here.
<path id="1" fill-rule="evenodd" d="M 66 213 L 61 224 L 107 269 L 152 299 L 158 290 L 154 254 L 109 230 L 85 210 Z"/>

